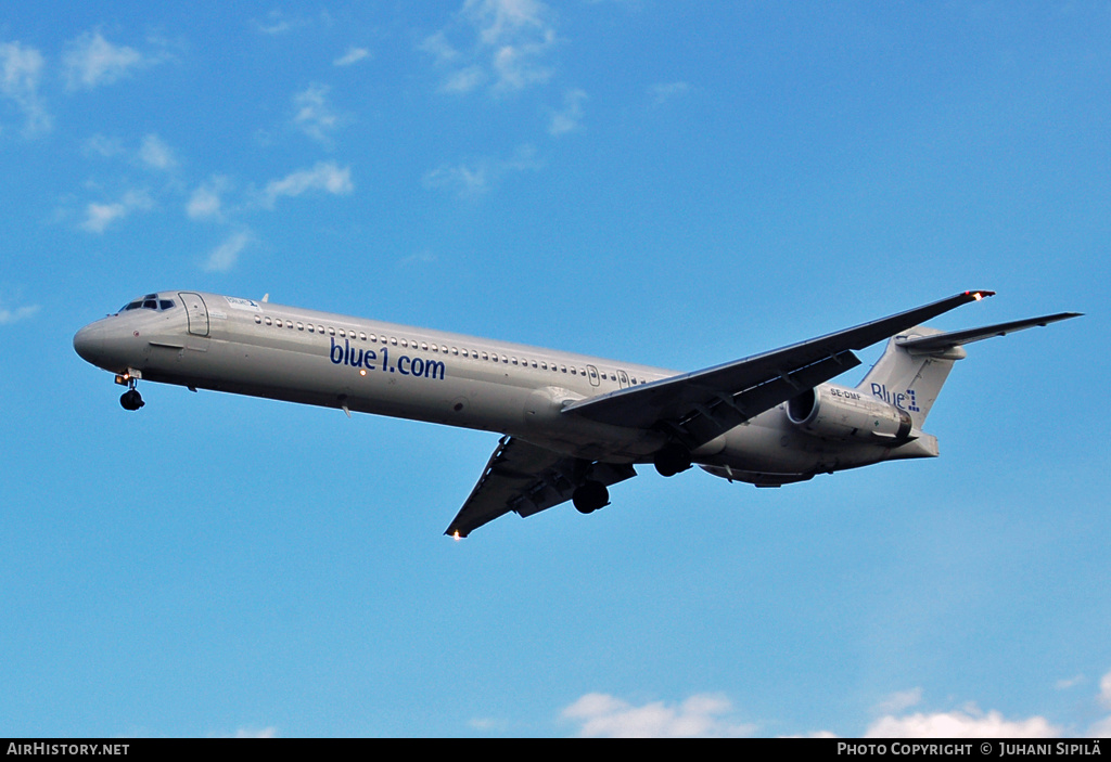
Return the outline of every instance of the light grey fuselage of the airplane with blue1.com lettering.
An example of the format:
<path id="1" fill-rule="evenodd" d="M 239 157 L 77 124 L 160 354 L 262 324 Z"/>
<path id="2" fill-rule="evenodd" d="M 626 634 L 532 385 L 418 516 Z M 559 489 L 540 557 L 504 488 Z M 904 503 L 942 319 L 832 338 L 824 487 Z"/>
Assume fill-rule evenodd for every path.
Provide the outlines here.
<path id="1" fill-rule="evenodd" d="M 216 294 L 157 296 L 173 308 L 92 323 L 78 353 L 146 380 L 498 431 L 585 460 L 647 463 L 665 441 L 561 410 L 672 370 Z M 694 463 L 772 485 L 919 455 L 809 436 L 783 407 L 699 448 Z"/>

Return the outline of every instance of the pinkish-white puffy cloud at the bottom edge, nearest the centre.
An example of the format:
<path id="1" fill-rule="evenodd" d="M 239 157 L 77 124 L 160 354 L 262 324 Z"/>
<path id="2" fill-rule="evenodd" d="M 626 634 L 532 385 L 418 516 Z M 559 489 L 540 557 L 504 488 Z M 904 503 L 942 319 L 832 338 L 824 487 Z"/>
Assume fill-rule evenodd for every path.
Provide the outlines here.
<path id="1" fill-rule="evenodd" d="M 605 693 L 588 693 L 561 717 L 579 724 L 587 738 L 735 738 L 755 727 L 732 717 L 732 703 L 717 694 L 697 694 L 677 705 L 655 701 L 634 707 Z"/>

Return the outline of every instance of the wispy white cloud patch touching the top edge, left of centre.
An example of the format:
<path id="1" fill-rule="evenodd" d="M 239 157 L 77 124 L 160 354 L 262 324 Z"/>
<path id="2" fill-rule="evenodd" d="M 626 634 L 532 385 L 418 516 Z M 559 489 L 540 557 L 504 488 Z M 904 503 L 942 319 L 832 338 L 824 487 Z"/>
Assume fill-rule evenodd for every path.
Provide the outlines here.
<path id="1" fill-rule="evenodd" d="M 544 62 L 556 45 L 553 13 L 539 0 L 466 0 L 453 24 L 470 40 L 464 51 L 449 30 L 424 38 L 420 50 L 450 69 L 442 92 L 466 93 L 491 82 L 494 92 L 514 92 L 548 81 Z M 454 31 L 454 30 L 451 30 Z"/>

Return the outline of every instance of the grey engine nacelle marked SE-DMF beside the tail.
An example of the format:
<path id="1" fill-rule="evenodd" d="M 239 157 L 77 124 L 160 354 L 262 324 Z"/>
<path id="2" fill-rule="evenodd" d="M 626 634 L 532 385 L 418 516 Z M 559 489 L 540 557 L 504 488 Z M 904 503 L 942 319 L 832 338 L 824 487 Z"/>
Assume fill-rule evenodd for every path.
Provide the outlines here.
<path id="1" fill-rule="evenodd" d="M 840 386 L 820 386 L 788 400 L 787 418 L 815 437 L 892 447 L 908 441 L 914 425 L 905 410 Z"/>

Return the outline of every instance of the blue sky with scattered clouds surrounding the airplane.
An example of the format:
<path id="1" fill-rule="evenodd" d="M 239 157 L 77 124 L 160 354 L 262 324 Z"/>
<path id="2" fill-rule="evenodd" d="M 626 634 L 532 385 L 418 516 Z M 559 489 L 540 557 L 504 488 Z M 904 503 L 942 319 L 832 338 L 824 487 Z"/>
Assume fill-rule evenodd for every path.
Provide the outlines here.
<path id="1" fill-rule="evenodd" d="M 0 735 L 1111 733 L 1109 129 L 1103 2 L 12 6 Z M 493 435 L 123 412 L 71 338 L 161 288 L 684 369 L 1087 316 L 935 460 L 454 542 Z"/>

